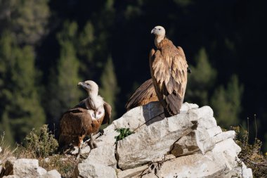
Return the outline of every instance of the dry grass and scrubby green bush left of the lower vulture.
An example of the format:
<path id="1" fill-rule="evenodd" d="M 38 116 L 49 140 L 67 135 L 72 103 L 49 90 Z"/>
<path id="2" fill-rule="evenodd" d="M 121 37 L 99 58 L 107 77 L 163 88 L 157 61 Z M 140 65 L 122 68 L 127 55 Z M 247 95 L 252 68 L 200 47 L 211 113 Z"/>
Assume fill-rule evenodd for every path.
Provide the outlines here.
<path id="1" fill-rule="evenodd" d="M 0 146 L 3 149 L 0 153 L 0 165 L 6 162 L 7 158 L 38 159 L 39 166 L 47 171 L 57 170 L 62 177 L 72 177 L 74 168 L 81 160 L 76 160 L 74 155 L 56 154 L 58 142 L 47 125 L 39 129 L 32 129 L 27 134 L 24 145 L 18 145 L 13 151 L 4 141 L 4 134 L 1 136 Z"/>

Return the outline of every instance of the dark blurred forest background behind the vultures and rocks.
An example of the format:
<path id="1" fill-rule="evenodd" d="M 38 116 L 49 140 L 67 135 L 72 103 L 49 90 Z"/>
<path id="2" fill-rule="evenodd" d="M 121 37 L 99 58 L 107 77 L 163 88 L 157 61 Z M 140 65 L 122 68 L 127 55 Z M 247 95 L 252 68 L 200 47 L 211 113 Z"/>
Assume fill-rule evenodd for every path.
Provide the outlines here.
<path id="1" fill-rule="evenodd" d="M 0 130 L 20 143 L 33 127 L 56 129 L 86 97 L 82 80 L 96 81 L 120 117 L 150 78 L 150 31 L 162 25 L 192 70 L 185 101 L 211 106 L 226 129 L 247 117 L 252 128 L 256 114 L 266 143 L 266 9 L 264 0 L 0 0 Z"/>

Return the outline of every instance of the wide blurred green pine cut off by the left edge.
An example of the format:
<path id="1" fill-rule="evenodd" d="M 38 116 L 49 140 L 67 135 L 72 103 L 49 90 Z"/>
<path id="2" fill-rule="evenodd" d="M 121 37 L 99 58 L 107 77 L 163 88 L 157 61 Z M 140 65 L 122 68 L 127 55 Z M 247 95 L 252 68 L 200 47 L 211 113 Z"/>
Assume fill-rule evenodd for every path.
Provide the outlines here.
<path id="1" fill-rule="evenodd" d="M 34 51 L 31 46 L 19 47 L 11 32 L 4 32 L 0 42 L 1 129 L 7 129 L 16 141 L 22 141 L 33 127 L 44 124 L 36 85 Z M 9 141 L 12 141 L 11 139 Z"/>

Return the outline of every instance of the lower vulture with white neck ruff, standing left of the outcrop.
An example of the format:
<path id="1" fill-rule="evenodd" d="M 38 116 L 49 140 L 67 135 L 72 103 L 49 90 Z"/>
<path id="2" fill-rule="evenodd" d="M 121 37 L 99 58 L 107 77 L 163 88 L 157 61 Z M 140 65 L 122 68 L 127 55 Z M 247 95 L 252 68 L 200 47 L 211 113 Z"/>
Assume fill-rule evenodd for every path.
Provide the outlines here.
<path id="1" fill-rule="evenodd" d="M 63 114 L 59 133 L 60 148 L 70 144 L 79 147 L 77 158 L 81 155 L 84 136 L 91 136 L 89 144 L 92 149 L 97 147 L 93 134 L 98 132 L 101 124 L 109 122 L 111 116 L 111 106 L 98 95 L 98 85 L 95 82 L 87 80 L 79 82 L 78 86 L 82 86 L 89 96 Z"/>

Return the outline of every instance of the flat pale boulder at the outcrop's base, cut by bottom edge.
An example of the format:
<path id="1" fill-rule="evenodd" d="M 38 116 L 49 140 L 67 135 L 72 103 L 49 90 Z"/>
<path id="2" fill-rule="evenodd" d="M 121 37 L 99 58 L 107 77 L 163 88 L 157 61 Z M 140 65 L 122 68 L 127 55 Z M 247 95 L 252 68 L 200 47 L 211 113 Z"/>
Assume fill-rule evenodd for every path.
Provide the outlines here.
<path id="1" fill-rule="evenodd" d="M 221 161 L 221 154 L 212 152 L 208 152 L 205 155 L 202 153 L 195 153 L 193 155 L 168 160 L 160 164 L 154 163 L 153 165 L 153 169 L 151 169 L 150 172 L 145 172 L 143 178 L 219 177 L 228 169 L 225 163 Z"/>

